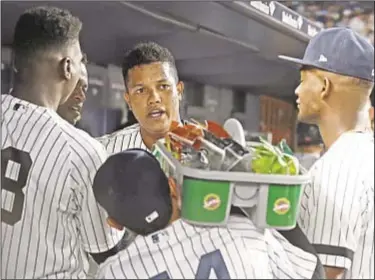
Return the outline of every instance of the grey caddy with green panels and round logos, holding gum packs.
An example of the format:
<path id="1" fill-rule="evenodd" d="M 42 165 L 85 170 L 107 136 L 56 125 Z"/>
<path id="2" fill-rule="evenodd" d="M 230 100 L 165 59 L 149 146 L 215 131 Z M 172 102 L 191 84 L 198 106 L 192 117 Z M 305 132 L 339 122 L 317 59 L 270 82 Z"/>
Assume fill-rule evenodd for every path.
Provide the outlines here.
<path id="1" fill-rule="evenodd" d="M 201 226 L 225 226 L 231 206 L 251 209 L 260 228 L 289 230 L 296 226 L 307 174 L 268 175 L 206 171 L 184 167 L 165 148 L 163 140 L 153 149 L 164 172 L 181 186 L 181 218 Z"/>

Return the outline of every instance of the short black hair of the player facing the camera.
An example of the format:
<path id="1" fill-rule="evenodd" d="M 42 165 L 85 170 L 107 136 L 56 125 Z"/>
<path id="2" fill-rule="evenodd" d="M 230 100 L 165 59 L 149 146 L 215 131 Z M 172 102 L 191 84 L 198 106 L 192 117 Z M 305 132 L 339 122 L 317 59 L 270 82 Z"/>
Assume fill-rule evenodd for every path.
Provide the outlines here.
<path id="1" fill-rule="evenodd" d="M 122 76 L 124 78 L 125 86 L 127 84 L 128 72 L 135 66 L 150 64 L 154 62 L 168 62 L 174 71 L 173 75 L 178 82 L 178 74 L 176 69 L 176 62 L 172 53 L 157 43 L 147 42 L 135 45 L 130 51 L 125 54 L 122 62 Z"/>

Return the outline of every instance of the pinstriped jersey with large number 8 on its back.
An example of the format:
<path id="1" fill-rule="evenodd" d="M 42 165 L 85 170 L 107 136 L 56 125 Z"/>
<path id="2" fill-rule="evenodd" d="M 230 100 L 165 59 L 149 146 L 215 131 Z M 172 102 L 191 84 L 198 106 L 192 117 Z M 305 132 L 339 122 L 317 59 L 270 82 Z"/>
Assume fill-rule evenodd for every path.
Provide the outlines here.
<path id="1" fill-rule="evenodd" d="M 121 237 L 91 188 L 107 153 L 50 109 L 10 95 L 1 105 L 2 278 L 85 278 L 82 248 Z"/>

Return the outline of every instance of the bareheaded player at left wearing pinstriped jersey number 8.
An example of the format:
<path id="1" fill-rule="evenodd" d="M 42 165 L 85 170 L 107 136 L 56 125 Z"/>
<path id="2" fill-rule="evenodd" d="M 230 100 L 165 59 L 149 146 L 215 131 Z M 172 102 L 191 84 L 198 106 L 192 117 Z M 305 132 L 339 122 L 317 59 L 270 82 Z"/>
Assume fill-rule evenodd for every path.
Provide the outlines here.
<path id="1" fill-rule="evenodd" d="M 16 23 L 15 85 L 1 96 L 2 279 L 85 278 L 86 252 L 121 237 L 92 192 L 104 148 L 56 113 L 86 71 L 80 30 L 54 7 L 27 10 Z"/>

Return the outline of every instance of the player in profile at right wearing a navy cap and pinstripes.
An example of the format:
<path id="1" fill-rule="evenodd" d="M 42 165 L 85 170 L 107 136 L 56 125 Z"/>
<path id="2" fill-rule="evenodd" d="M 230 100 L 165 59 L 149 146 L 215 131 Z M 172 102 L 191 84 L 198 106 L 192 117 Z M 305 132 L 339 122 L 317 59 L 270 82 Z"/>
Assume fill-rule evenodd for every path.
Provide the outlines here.
<path id="1" fill-rule="evenodd" d="M 311 169 L 299 223 L 327 278 L 374 278 L 374 138 L 367 102 L 374 85 L 374 47 L 346 28 L 313 37 L 296 89 L 300 121 L 317 124 L 327 148 Z"/>

